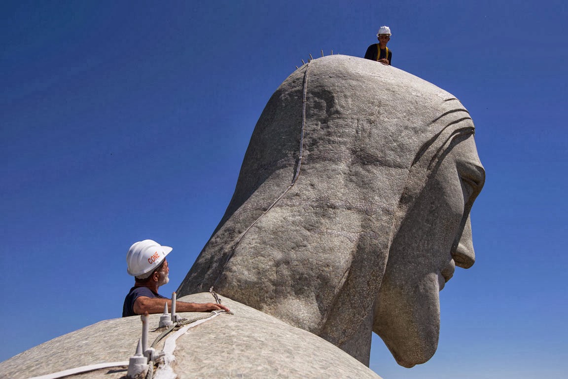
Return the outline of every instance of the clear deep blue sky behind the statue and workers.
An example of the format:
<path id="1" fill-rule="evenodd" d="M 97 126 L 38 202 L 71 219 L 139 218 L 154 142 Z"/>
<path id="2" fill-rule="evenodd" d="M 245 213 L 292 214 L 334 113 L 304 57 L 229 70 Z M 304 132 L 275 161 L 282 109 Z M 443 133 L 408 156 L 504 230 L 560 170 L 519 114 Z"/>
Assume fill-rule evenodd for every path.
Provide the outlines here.
<path id="1" fill-rule="evenodd" d="M 477 128 L 477 263 L 441 291 L 436 355 L 394 378 L 565 378 L 564 1 L 4 1 L 0 360 L 121 315 L 125 256 L 154 239 L 171 293 L 228 205 L 254 124 L 308 53 L 363 56 L 448 90 Z"/>

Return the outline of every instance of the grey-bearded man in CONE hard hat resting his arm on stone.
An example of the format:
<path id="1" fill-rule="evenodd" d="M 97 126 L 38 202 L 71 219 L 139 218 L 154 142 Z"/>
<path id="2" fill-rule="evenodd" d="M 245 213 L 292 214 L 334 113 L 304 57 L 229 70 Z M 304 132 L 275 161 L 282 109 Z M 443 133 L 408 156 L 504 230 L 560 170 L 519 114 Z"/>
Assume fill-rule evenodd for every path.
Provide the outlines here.
<path id="1" fill-rule="evenodd" d="M 166 255 L 171 251 L 171 247 L 162 246 L 153 240 L 136 242 L 128 249 L 126 255 L 128 273 L 135 278 L 135 284 L 124 299 L 123 317 L 162 313 L 165 303 L 168 303 L 168 309 L 172 309 L 172 301 L 158 294 L 158 288 L 169 281 Z M 215 303 L 176 302 L 178 312 L 207 312 L 220 309 L 229 311 L 227 307 Z"/>

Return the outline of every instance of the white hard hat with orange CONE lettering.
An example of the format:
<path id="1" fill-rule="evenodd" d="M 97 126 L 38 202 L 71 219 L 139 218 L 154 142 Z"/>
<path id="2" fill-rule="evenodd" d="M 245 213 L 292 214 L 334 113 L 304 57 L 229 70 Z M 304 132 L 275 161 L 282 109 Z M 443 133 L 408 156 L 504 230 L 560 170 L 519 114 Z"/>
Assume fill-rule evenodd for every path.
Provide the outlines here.
<path id="1" fill-rule="evenodd" d="M 142 276 L 146 273 L 151 273 L 172 250 L 173 248 L 162 246 L 153 240 L 133 243 L 126 255 L 127 271 L 132 276 Z"/>

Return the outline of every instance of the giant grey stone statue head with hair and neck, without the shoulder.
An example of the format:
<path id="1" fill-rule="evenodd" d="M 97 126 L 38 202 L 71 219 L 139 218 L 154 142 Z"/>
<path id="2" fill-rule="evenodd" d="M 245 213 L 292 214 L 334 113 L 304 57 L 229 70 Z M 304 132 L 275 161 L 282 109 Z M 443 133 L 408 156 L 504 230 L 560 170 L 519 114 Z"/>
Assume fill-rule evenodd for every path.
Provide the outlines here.
<path id="1" fill-rule="evenodd" d="M 437 348 L 438 291 L 474 263 L 485 174 L 453 95 L 391 66 L 312 60 L 270 98 L 231 203 L 182 282 L 308 330 L 368 364 Z"/>

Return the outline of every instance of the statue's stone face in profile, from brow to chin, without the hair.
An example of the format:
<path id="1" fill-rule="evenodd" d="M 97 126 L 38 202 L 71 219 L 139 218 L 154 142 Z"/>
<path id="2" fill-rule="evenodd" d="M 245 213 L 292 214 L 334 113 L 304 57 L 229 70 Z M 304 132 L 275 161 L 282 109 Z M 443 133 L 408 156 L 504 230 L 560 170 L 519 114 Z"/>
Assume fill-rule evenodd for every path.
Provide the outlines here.
<path id="1" fill-rule="evenodd" d="M 474 263 L 469 211 L 484 182 L 473 135 L 455 138 L 392 242 L 373 330 L 400 365 L 424 363 L 436 351 L 438 292 L 456 265 Z"/>

